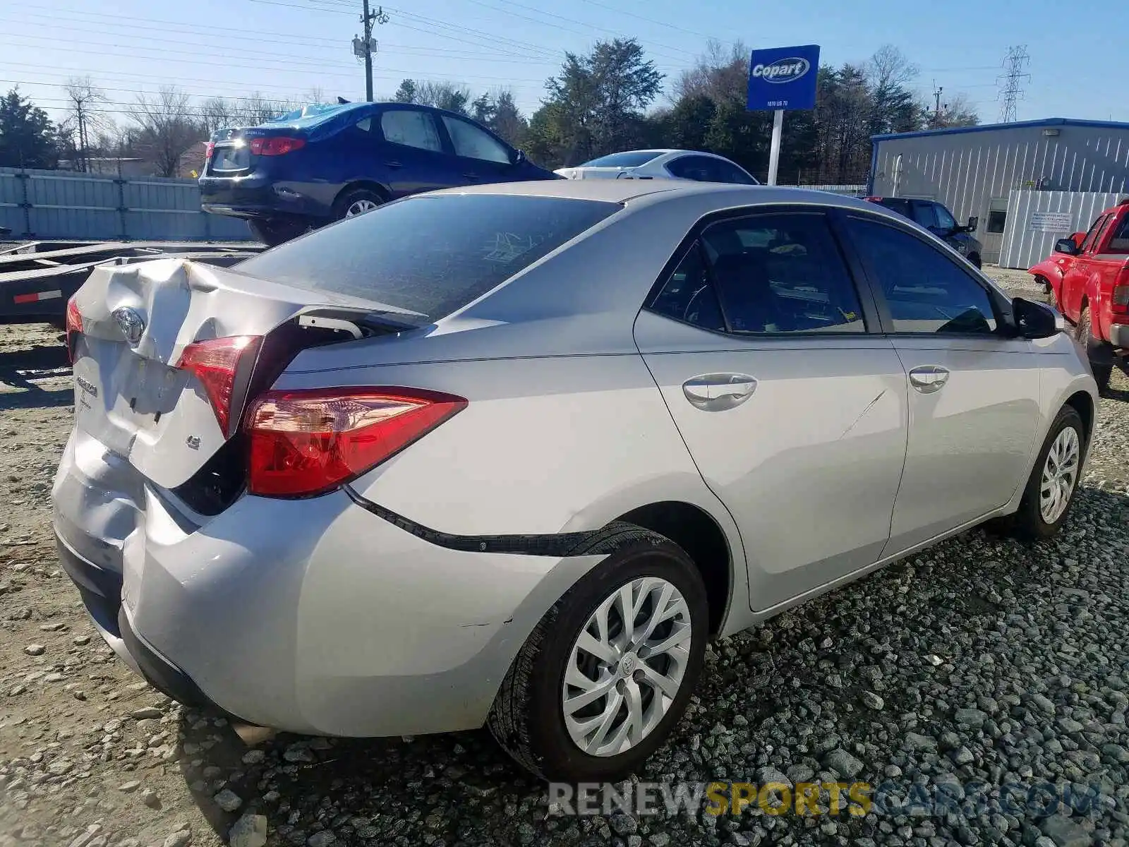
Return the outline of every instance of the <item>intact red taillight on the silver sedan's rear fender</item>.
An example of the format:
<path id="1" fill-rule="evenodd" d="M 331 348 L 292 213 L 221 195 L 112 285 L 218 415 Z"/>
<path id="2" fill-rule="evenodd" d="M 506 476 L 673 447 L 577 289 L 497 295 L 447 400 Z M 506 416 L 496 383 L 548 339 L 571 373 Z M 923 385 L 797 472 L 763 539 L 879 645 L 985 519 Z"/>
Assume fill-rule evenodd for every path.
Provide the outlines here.
<path id="1" fill-rule="evenodd" d="M 305 497 L 348 482 L 466 408 L 420 388 L 272 391 L 254 402 L 247 490 Z"/>

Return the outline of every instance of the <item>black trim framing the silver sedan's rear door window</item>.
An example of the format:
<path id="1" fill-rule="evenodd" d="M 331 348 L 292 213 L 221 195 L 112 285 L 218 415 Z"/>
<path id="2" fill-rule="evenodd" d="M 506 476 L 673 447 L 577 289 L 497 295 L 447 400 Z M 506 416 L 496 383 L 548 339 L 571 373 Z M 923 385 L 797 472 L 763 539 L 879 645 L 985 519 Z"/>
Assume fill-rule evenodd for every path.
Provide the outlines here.
<path id="1" fill-rule="evenodd" d="M 834 206 L 815 206 L 805 203 L 769 203 L 763 206 L 746 206 L 739 207 L 737 209 L 723 209 L 720 211 L 710 212 L 704 215 L 694 221 L 694 225 L 690 228 L 690 232 L 679 242 L 679 246 L 671 254 L 671 257 L 663 265 L 663 270 L 659 272 L 658 278 L 655 280 L 654 285 L 650 287 L 647 297 L 644 299 L 640 311 L 646 309 L 651 314 L 658 315 L 659 317 L 665 317 L 671 321 L 676 321 L 685 326 L 693 326 L 695 330 L 702 332 L 710 332 L 715 335 L 724 335 L 732 339 L 741 339 L 744 341 L 750 340 L 798 340 L 805 338 L 812 339 L 839 339 L 839 340 L 850 340 L 850 339 L 868 339 L 874 340 L 875 337 L 881 337 L 885 334 L 882 331 L 881 315 L 877 307 L 877 302 L 874 297 L 874 292 L 870 290 L 869 279 L 865 276 L 859 276 L 861 273 L 861 268 L 857 264 L 852 264 L 851 257 L 844 250 L 843 238 L 840 236 L 840 232 L 835 227 L 834 217 L 841 210 Z M 739 332 L 732 330 L 729 323 L 729 316 L 725 312 L 725 306 L 721 304 L 721 298 L 717 294 L 717 288 L 714 282 L 714 268 L 712 263 L 709 262 L 709 256 L 706 253 L 706 248 L 702 245 L 701 236 L 703 233 L 715 224 L 741 220 L 744 218 L 758 218 L 765 215 L 817 215 L 824 219 L 826 224 L 828 232 L 831 235 L 831 241 L 839 250 L 839 256 L 843 262 L 843 267 L 847 270 L 847 278 L 850 283 L 855 287 L 855 295 L 858 297 L 859 307 L 863 311 L 863 332 Z M 663 288 L 666 286 L 667 280 L 669 280 L 671 274 L 677 270 L 682 260 L 686 257 L 691 247 L 697 245 L 698 250 L 702 253 L 702 261 L 706 267 L 707 279 L 709 280 L 710 290 L 714 292 L 714 297 L 717 299 L 718 308 L 721 312 L 721 320 L 725 322 L 725 331 L 711 330 L 707 326 L 700 326 L 689 321 L 682 321 L 677 317 L 672 317 L 671 315 L 657 312 L 654 308 L 655 302 L 658 295 L 662 294 Z"/>

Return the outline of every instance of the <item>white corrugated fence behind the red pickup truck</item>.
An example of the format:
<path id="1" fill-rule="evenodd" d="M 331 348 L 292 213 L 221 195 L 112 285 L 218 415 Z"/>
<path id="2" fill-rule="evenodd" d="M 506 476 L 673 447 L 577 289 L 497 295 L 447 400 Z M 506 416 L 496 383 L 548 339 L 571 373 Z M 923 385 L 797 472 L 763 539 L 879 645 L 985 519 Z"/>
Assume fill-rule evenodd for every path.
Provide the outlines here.
<path id="1" fill-rule="evenodd" d="M 1089 229 L 1104 209 L 1117 206 L 1123 198 L 1123 193 L 1097 191 L 1013 190 L 1007 198 L 1000 267 L 1030 268 L 1036 264 L 1050 255 L 1056 241 Z"/>

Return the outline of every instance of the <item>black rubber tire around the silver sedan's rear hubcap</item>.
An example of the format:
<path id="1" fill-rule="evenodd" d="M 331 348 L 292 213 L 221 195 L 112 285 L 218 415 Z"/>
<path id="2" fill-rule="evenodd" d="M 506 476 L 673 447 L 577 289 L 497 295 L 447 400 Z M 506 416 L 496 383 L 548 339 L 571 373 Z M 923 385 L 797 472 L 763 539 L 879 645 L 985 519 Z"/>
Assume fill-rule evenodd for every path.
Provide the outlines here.
<path id="1" fill-rule="evenodd" d="M 633 524 L 613 523 L 572 556 L 607 553 L 550 609 L 514 658 L 487 725 L 523 768 L 549 780 L 618 781 L 636 771 L 677 724 L 698 683 L 708 637 L 709 606 L 701 574 L 668 539 Z M 685 673 L 669 709 L 630 750 L 609 757 L 580 750 L 568 734 L 561 704 L 574 641 L 595 609 L 618 587 L 640 576 L 673 584 L 690 610 L 691 646 Z"/>

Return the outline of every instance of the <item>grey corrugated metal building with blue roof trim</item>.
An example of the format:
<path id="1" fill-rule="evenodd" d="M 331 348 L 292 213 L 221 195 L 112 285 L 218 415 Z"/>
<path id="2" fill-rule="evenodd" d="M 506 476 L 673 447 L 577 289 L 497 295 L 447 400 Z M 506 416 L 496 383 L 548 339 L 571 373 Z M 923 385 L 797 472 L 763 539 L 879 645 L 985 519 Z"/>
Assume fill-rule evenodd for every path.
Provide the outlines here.
<path id="1" fill-rule="evenodd" d="M 979 218 L 984 262 L 999 261 L 1013 191 L 1129 192 L 1129 123 L 1048 117 L 873 141 L 867 192 L 937 200 L 960 222 Z"/>

